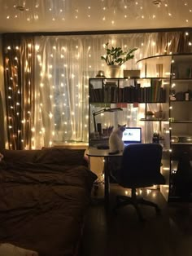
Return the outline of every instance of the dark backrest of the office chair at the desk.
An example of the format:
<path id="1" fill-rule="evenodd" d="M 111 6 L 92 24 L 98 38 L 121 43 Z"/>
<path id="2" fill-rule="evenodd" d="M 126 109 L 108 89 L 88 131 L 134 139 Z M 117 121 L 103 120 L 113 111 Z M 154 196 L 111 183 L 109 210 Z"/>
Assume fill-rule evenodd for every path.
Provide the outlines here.
<path id="1" fill-rule="evenodd" d="M 120 183 L 125 187 L 136 188 L 164 183 L 164 176 L 160 174 L 161 158 L 162 147 L 158 143 L 125 147 L 120 168 Z"/>

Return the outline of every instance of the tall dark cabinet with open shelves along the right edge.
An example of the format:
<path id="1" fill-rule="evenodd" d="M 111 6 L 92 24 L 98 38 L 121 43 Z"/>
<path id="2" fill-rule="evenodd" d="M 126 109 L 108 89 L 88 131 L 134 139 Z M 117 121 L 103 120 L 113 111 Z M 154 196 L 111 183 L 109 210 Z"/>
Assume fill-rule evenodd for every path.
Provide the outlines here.
<path id="1" fill-rule="evenodd" d="M 192 55 L 173 55 L 170 82 L 169 201 L 192 200 Z"/>

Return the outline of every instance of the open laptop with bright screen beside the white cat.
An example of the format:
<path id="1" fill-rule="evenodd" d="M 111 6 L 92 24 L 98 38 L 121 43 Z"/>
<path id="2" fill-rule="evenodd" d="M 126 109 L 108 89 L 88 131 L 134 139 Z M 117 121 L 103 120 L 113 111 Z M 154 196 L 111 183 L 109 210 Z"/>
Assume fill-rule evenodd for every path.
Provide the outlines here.
<path id="1" fill-rule="evenodd" d="M 142 128 L 141 127 L 126 127 L 123 132 L 122 140 L 124 146 L 129 144 L 142 143 Z"/>

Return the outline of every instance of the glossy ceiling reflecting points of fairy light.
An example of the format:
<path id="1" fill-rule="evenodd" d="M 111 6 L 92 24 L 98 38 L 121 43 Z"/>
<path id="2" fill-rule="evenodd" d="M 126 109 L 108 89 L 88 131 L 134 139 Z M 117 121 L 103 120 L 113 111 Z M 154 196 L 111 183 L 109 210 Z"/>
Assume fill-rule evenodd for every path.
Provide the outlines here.
<path id="1" fill-rule="evenodd" d="M 0 0 L 0 33 L 192 28 L 191 0 Z"/>

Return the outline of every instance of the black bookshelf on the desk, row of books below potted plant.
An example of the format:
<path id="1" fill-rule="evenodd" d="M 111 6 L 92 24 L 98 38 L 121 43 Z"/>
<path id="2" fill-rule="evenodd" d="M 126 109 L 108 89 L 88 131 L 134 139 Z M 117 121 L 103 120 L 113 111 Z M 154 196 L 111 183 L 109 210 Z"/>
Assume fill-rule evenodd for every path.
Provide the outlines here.
<path id="1" fill-rule="evenodd" d="M 165 78 L 168 80 L 168 78 Z M 89 79 L 89 144 L 106 143 L 111 126 L 127 124 L 127 126 L 142 126 L 143 142 L 152 142 L 152 134 L 146 135 L 147 129 L 143 121 L 155 121 L 161 124 L 168 121 L 168 111 L 165 109 L 164 118 L 147 119 L 147 109 L 159 113 L 159 104 L 168 104 L 168 89 L 164 86 L 162 77 L 143 78 L 90 78 Z M 151 108 L 151 106 L 153 106 Z M 113 111 L 103 109 L 116 108 Z M 118 111 L 120 109 L 122 111 Z M 130 112 L 130 113 L 129 113 Z M 135 115 L 134 113 L 137 113 Z M 101 116 L 106 118 L 101 120 Z M 110 116 L 110 117 L 109 117 Z M 127 119 L 126 117 L 129 117 Z M 141 116 L 141 118 L 139 118 Z M 97 118 L 97 121 L 95 119 Z M 136 120 L 136 121 L 133 121 Z M 95 123 L 97 122 L 97 125 Z M 95 129 L 96 126 L 96 129 Z M 158 128 L 159 129 L 159 128 Z M 106 135 L 106 136 L 105 136 Z M 149 138 L 147 138 L 149 137 Z"/>

